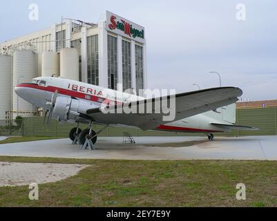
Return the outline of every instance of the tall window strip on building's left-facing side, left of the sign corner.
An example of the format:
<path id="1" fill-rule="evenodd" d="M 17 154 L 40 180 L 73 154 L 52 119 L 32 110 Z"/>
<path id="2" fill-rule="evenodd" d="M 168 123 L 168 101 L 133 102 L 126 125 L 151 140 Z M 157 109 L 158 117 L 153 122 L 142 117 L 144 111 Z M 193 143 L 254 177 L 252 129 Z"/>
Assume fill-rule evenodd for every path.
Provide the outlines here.
<path id="1" fill-rule="evenodd" d="M 98 35 L 88 37 L 88 84 L 99 86 Z"/>

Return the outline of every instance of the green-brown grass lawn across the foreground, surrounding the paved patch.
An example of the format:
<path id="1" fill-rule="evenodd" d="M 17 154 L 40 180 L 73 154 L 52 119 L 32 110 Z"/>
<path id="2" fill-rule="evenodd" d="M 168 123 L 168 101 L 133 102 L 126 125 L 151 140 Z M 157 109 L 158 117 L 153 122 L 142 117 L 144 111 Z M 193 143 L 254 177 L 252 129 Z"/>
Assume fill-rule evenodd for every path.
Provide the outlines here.
<path id="1" fill-rule="evenodd" d="M 277 206 L 277 162 L 124 161 L 0 157 L 0 162 L 91 164 L 78 175 L 39 185 L 0 187 L 0 206 Z M 0 177 L 1 178 L 1 177 Z M 236 184 L 247 200 L 236 200 Z"/>

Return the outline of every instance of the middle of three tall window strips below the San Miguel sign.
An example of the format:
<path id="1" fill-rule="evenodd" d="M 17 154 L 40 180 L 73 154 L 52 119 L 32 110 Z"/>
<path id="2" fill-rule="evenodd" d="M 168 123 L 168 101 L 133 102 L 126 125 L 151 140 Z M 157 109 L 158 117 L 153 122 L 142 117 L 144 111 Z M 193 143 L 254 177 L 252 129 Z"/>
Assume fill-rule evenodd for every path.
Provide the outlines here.
<path id="1" fill-rule="evenodd" d="M 122 83 L 123 91 L 132 87 L 131 43 L 122 40 Z"/>

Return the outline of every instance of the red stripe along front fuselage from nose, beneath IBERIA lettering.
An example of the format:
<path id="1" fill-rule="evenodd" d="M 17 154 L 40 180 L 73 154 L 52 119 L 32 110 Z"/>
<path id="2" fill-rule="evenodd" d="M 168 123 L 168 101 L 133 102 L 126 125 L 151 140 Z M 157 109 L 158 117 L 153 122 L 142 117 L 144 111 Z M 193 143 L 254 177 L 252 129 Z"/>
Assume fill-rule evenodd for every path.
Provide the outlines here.
<path id="1" fill-rule="evenodd" d="M 55 91 L 57 90 L 57 92 L 60 95 L 67 95 L 70 97 L 76 97 L 76 98 L 80 98 L 80 99 L 86 99 L 92 102 L 99 102 L 99 103 L 104 103 L 109 105 L 110 102 L 115 102 L 113 100 L 110 99 L 106 99 L 104 97 L 99 97 L 96 95 L 91 95 L 91 94 L 86 94 L 86 93 L 81 93 L 78 91 L 73 91 L 73 90 L 68 90 L 68 89 L 64 89 L 64 88 L 58 88 L 55 86 L 39 86 L 37 84 L 19 84 L 17 85 L 17 87 L 22 87 L 22 88 L 34 88 L 37 90 L 44 90 L 44 91 L 48 91 L 51 93 L 55 93 Z M 90 99 L 88 99 L 86 96 L 90 96 Z M 122 104 L 121 102 L 116 102 L 117 105 Z"/>

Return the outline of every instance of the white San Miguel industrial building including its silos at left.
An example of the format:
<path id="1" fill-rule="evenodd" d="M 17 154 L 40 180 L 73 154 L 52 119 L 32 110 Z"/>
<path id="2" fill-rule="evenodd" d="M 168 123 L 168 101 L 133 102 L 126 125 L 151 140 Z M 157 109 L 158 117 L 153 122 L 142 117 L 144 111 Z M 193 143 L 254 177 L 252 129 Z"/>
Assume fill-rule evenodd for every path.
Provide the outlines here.
<path id="1" fill-rule="evenodd" d="M 137 93 L 146 88 L 144 27 L 112 12 L 97 24 L 62 19 L 50 28 L 5 41 L 0 49 L 0 119 L 37 113 L 13 90 L 35 77 L 64 77 Z"/>

